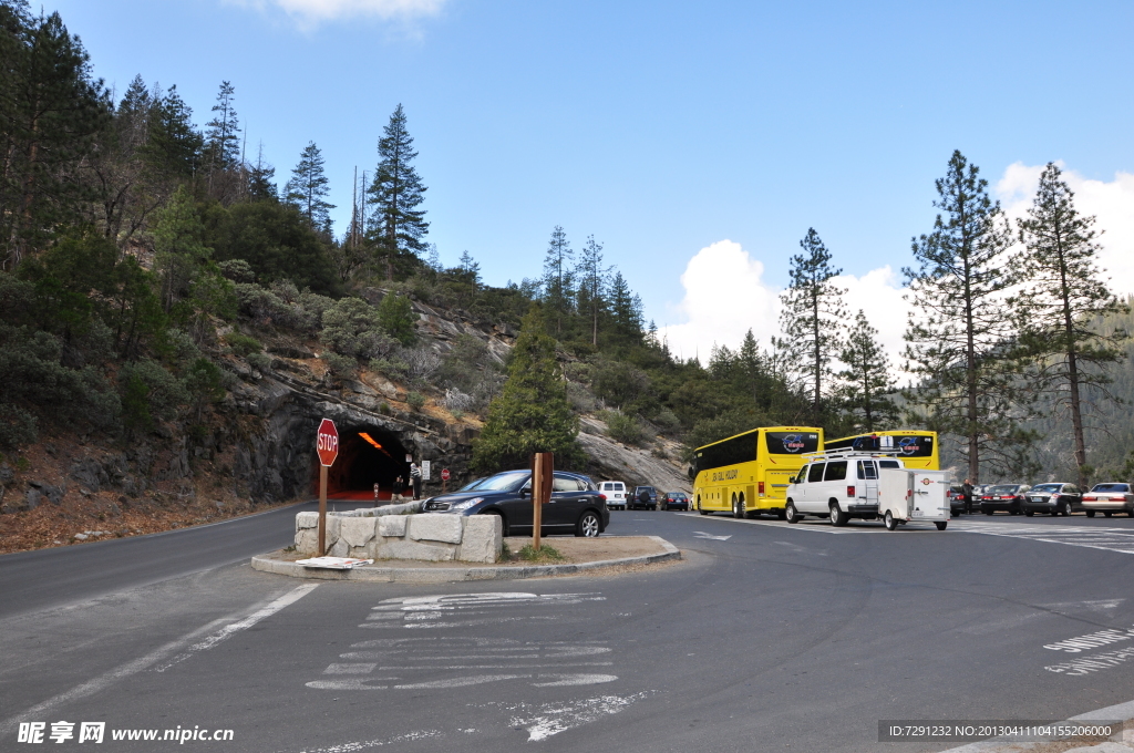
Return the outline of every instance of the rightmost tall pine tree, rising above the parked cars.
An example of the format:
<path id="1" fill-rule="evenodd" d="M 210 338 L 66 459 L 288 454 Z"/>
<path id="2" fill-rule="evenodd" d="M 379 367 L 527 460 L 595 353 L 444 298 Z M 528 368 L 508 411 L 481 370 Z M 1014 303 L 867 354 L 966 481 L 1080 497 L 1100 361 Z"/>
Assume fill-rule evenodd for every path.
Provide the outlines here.
<path id="1" fill-rule="evenodd" d="M 1027 218 L 1017 220 L 1025 245 L 1022 269 L 1027 284 L 1017 304 L 1022 345 L 1034 359 L 1035 376 L 1070 414 L 1078 483 L 1085 488 L 1092 468 L 1086 463 L 1083 414 L 1092 401 L 1090 388 L 1101 392 L 1110 382 L 1103 371 L 1123 359 L 1126 333 L 1098 331 L 1100 316 L 1127 313 L 1094 264 L 1099 249 L 1094 218 L 1083 217 L 1075 195 L 1049 162 Z"/>

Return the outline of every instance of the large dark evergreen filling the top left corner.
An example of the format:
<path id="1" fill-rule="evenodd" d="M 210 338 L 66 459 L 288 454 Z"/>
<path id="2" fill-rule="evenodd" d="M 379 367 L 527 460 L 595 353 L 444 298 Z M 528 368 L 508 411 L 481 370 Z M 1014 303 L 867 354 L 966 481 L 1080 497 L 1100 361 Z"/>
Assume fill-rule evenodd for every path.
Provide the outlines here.
<path id="1" fill-rule="evenodd" d="M 57 228 L 82 221 L 82 166 L 111 103 L 59 14 L 32 18 L 25 3 L 5 3 L 0 40 L 0 244 L 10 270 Z"/>

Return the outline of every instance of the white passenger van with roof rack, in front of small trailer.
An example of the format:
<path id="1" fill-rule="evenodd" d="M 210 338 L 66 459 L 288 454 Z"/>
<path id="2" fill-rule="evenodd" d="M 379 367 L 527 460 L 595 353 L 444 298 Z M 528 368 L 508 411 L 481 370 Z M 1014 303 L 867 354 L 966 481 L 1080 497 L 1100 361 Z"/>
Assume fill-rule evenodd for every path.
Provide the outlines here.
<path id="1" fill-rule="evenodd" d="M 878 518 L 878 474 L 904 468 L 902 460 L 879 452 L 815 452 L 787 487 L 784 511 L 788 523 L 807 515 L 846 525 L 850 518 Z"/>

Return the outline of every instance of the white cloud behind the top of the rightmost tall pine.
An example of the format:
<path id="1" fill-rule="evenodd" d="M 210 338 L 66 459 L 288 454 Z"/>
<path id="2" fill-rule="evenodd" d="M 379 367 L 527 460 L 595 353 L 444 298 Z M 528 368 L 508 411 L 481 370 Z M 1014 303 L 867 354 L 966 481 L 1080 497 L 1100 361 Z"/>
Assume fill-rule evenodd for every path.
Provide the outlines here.
<path id="1" fill-rule="evenodd" d="M 1111 289 L 1119 294 L 1134 293 L 1134 175 L 1119 171 L 1107 183 L 1084 178 L 1065 169 L 1061 162 L 1056 164 L 1075 192 L 1075 208 L 1082 214 L 1098 218 L 1095 229 L 1105 230 L 1099 237 L 1102 249 L 1098 260 L 1099 266 L 1110 277 Z M 1015 218 L 1025 217 L 1032 205 L 1043 167 L 1022 162 L 1009 164 L 997 183 L 996 193 L 1005 213 L 1013 218 L 1013 226 Z"/>

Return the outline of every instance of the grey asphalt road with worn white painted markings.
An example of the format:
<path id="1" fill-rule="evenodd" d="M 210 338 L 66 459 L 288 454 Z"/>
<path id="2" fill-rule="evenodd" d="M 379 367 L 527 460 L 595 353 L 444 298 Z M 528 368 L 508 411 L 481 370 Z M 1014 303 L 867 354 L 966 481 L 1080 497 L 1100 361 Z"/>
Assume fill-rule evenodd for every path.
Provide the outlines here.
<path id="1" fill-rule="evenodd" d="M 247 523 L 289 535 L 282 517 Z M 195 750 L 269 753 L 921 751 L 949 745 L 879 743 L 879 720 L 1134 699 L 1128 518 L 891 533 L 619 511 L 608 533 L 687 557 L 526 582 L 316 585 L 234 564 L 108 579 L 94 599 L 54 586 L 51 608 L 0 618 L 0 750 L 22 750 L 19 721 L 66 720 L 76 738 L 105 722 L 109 751 L 172 750 L 111 730 L 178 727 L 232 730 Z M 1110 643 L 1060 645 L 1101 631 Z"/>

